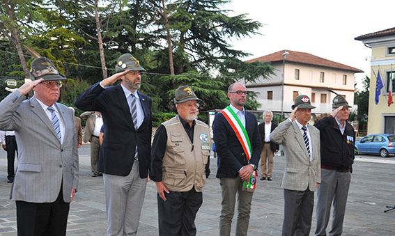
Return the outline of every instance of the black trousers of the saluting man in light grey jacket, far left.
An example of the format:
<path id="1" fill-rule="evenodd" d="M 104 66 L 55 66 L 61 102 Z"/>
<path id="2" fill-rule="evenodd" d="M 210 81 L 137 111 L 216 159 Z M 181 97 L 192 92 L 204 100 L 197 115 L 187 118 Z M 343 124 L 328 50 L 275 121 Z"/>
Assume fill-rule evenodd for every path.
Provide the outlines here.
<path id="1" fill-rule="evenodd" d="M 18 236 L 62 236 L 66 226 L 70 203 L 63 201 L 61 190 L 54 203 L 28 203 L 16 201 Z"/>

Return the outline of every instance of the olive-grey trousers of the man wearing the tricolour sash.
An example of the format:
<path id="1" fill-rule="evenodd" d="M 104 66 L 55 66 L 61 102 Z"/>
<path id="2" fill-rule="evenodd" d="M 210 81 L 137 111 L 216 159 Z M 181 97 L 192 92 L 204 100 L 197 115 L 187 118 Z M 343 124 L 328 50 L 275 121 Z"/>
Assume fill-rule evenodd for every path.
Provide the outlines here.
<path id="1" fill-rule="evenodd" d="M 219 235 L 231 235 L 233 214 L 235 214 L 236 194 L 238 194 L 238 222 L 236 224 L 236 236 L 247 235 L 249 214 L 251 212 L 251 200 L 254 194 L 251 191 L 242 190 L 242 179 L 219 178 L 222 189 L 222 210 L 219 217 Z"/>

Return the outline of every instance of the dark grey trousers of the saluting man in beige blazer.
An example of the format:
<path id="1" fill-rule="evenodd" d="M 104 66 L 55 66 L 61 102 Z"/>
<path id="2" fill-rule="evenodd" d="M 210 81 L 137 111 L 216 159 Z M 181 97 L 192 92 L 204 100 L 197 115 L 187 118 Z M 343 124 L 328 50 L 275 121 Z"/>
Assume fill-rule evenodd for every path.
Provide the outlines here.
<path id="1" fill-rule="evenodd" d="M 284 189 L 283 236 L 308 236 L 313 216 L 314 192 Z"/>

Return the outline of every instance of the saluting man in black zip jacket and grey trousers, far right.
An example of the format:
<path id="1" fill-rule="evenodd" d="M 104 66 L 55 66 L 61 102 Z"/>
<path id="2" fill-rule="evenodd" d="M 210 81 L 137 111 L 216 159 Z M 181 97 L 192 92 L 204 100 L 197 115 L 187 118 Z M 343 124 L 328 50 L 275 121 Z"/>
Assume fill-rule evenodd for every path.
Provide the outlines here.
<path id="1" fill-rule="evenodd" d="M 332 202 L 332 228 L 329 235 L 343 233 L 355 150 L 354 128 L 347 122 L 349 108 L 347 100 L 342 95 L 336 95 L 332 101 L 331 115 L 314 125 L 320 129 L 322 175 L 318 187 L 316 235 L 327 235 Z"/>

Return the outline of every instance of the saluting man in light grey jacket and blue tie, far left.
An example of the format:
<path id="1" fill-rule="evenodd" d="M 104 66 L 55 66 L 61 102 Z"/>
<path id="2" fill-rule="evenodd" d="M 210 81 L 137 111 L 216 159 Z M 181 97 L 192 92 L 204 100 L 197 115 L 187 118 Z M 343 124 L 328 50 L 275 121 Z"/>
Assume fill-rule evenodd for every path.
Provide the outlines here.
<path id="1" fill-rule="evenodd" d="M 15 130 L 18 166 L 12 190 L 18 235 L 65 235 L 78 187 L 74 114 L 59 100 L 60 74 L 48 58 L 31 62 L 32 81 L 0 102 L 0 129 Z M 34 96 L 26 100 L 33 89 Z"/>

